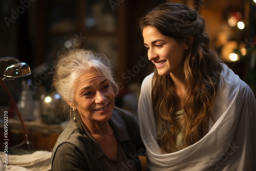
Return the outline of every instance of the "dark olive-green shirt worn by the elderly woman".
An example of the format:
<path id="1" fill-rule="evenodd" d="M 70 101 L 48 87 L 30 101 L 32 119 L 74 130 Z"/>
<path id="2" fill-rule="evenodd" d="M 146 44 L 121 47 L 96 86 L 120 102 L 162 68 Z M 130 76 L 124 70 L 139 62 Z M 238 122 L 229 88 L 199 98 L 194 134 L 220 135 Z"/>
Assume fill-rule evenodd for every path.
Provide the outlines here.
<path id="1" fill-rule="evenodd" d="M 115 107 L 109 123 L 126 155 L 120 155 L 124 161 L 117 162 L 118 170 L 141 170 L 139 155 L 145 155 L 145 147 L 137 120 L 131 113 Z M 52 170 L 109 170 L 106 168 L 111 164 L 106 166 L 104 157 L 101 147 L 78 118 L 77 124 L 70 122 L 59 136 L 52 152 Z"/>

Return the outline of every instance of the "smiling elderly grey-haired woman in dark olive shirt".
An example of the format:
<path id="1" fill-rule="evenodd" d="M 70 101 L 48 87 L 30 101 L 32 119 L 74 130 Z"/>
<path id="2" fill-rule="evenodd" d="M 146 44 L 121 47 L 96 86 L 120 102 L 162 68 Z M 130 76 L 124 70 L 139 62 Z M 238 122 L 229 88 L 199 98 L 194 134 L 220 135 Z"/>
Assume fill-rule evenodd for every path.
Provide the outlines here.
<path id="1" fill-rule="evenodd" d="M 133 115 L 115 106 L 118 84 L 103 54 L 75 49 L 61 54 L 53 87 L 71 121 L 52 152 L 52 170 L 140 170 L 145 153 Z"/>

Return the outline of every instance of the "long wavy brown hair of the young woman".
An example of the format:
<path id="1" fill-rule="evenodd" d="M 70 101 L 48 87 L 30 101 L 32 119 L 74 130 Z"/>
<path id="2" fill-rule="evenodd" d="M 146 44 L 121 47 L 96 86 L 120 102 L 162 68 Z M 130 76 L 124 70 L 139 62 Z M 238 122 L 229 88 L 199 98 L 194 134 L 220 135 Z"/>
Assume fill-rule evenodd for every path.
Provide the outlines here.
<path id="1" fill-rule="evenodd" d="M 164 152 L 172 153 L 181 130 L 184 134 L 182 148 L 196 143 L 207 133 L 221 79 L 221 60 L 209 46 L 204 18 L 194 9 L 181 4 L 161 4 L 140 18 L 140 29 L 146 26 L 153 26 L 161 34 L 189 45 L 184 54 L 182 119 L 175 115 L 178 111 L 176 88 L 170 75 L 159 76 L 155 69 L 153 77 L 153 109 L 155 118 L 160 115 L 161 121 L 158 144 Z"/>

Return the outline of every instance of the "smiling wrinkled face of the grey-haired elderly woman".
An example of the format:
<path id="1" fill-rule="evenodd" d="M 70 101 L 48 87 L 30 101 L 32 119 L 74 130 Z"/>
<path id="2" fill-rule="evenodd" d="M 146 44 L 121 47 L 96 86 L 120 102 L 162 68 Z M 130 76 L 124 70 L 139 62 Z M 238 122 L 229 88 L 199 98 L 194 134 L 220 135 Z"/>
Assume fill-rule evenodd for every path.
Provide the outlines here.
<path id="1" fill-rule="evenodd" d="M 114 90 L 110 81 L 98 72 L 86 72 L 78 78 L 74 99 L 72 108 L 79 112 L 84 123 L 104 122 L 112 117 Z"/>

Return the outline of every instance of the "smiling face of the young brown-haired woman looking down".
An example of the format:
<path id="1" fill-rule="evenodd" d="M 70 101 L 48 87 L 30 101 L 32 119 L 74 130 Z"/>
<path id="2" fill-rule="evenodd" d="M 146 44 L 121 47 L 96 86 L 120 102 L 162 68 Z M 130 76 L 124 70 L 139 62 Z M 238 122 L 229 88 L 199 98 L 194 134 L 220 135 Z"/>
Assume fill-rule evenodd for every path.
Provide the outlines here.
<path id="1" fill-rule="evenodd" d="M 188 49 L 185 42 L 164 36 L 152 26 L 146 26 L 142 35 L 148 59 L 155 64 L 159 75 L 182 73 L 184 51 Z"/>

